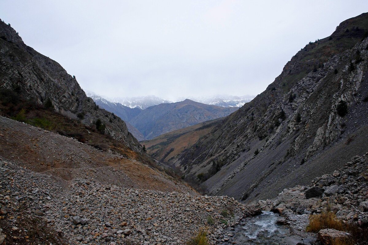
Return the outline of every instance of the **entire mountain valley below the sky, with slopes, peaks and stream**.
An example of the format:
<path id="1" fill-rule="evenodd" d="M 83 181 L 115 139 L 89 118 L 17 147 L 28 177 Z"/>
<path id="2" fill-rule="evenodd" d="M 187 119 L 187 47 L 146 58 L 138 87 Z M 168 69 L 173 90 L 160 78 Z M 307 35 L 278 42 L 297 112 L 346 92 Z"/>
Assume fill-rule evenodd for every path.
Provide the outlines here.
<path id="1" fill-rule="evenodd" d="M 368 244 L 367 72 L 363 13 L 256 97 L 105 98 L 0 20 L 0 245 Z"/>

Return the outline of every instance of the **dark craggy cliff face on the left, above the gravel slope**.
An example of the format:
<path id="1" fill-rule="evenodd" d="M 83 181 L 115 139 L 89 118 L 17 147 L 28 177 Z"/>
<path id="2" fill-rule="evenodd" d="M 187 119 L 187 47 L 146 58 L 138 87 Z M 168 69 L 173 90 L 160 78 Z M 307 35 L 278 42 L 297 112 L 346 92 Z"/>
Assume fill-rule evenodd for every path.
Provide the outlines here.
<path id="1" fill-rule="evenodd" d="M 106 134 L 134 151 L 141 151 L 121 119 L 99 109 L 60 64 L 26 46 L 3 21 L 0 21 L 0 64 L 0 89 L 15 91 L 36 104 L 52 103 L 56 112 L 74 119 L 79 115 L 86 125 L 95 125 L 100 119 L 106 126 Z"/>

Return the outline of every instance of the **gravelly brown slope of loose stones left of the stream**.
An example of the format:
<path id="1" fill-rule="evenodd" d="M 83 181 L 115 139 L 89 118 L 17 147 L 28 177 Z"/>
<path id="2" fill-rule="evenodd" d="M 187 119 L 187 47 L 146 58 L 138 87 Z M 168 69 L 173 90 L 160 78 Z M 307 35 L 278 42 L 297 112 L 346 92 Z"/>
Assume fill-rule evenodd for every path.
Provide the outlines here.
<path id="1" fill-rule="evenodd" d="M 0 139 L 1 244 L 185 244 L 204 226 L 217 243 L 247 210 L 198 195 L 133 151 L 98 150 L 3 117 Z"/>

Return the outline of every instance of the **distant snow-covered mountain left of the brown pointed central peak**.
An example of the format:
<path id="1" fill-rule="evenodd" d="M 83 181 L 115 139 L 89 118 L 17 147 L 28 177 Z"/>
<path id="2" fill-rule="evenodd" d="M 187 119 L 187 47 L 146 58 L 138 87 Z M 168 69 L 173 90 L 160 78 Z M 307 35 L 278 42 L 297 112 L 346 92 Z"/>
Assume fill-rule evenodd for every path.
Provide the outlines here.
<path id="1" fill-rule="evenodd" d="M 137 96 L 137 97 L 114 97 L 111 99 L 114 102 L 118 102 L 130 108 L 146 109 L 153 105 L 159 105 L 162 103 L 172 103 L 170 100 L 165 100 L 154 95 Z"/>

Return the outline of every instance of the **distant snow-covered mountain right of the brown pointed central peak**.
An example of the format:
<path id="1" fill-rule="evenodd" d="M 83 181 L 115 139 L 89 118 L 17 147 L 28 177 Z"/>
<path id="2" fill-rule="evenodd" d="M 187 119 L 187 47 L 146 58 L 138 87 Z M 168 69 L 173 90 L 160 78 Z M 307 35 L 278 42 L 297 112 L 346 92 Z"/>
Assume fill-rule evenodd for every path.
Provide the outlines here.
<path id="1" fill-rule="evenodd" d="M 216 95 L 210 97 L 188 97 L 192 101 L 197 101 L 207 105 L 217 105 L 219 107 L 242 107 L 254 99 L 255 96 L 231 96 L 231 95 Z M 185 98 L 179 98 L 178 101 Z"/>

